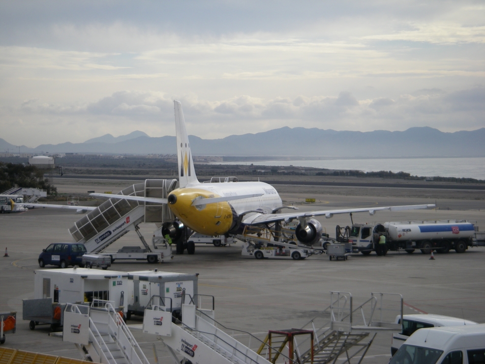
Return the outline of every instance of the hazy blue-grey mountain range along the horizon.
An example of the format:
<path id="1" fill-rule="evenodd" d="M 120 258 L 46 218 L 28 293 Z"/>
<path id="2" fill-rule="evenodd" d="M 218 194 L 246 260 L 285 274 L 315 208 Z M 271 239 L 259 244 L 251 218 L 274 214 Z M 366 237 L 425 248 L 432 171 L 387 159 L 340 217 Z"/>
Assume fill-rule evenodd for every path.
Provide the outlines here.
<path id="1" fill-rule="evenodd" d="M 485 128 L 445 133 L 430 127 L 405 131 L 335 131 L 287 126 L 222 139 L 189 136 L 194 155 L 222 156 L 343 156 L 343 157 L 474 157 L 485 156 Z M 0 138 L 0 151 L 18 146 Z M 22 153 L 175 154 L 174 136 L 150 137 L 142 131 L 114 137 L 106 134 L 84 143 L 20 147 Z"/>

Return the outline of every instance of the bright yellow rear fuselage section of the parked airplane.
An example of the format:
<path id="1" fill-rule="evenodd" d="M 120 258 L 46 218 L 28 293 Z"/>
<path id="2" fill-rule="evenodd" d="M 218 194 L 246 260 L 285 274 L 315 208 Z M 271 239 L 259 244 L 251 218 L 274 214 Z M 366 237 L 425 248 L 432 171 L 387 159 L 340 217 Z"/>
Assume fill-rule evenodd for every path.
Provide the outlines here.
<path id="1" fill-rule="evenodd" d="M 223 235 L 233 222 L 232 209 L 227 202 L 192 206 L 196 198 L 212 197 L 220 196 L 199 188 L 179 188 L 168 196 L 168 206 L 190 229 L 205 235 Z"/>

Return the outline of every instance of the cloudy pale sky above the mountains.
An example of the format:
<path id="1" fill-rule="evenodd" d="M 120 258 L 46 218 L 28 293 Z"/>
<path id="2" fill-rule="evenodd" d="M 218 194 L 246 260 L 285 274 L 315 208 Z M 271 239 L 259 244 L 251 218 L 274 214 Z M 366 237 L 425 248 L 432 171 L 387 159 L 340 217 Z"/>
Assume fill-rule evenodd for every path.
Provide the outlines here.
<path id="1" fill-rule="evenodd" d="M 485 127 L 484 1 L 0 0 L 0 138 Z M 0 151 L 3 152 L 3 151 Z"/>

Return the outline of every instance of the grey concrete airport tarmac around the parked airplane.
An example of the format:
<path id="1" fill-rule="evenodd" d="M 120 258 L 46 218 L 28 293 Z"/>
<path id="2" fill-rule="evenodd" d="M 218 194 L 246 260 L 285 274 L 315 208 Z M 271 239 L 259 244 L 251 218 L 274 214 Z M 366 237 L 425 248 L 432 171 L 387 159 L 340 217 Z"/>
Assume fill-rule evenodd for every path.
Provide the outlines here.
<path id="1" fill-rule="evenodd" d="M 60 179 L 61 180 L 61 179 Z M 112 190 L 118 192 L 131 182 L 102 181 L 102 185 L 70 180 L 56 180 L 60 192 L 86 193 Z M 289 186 L 276 185 L 284 203 L 301 210 L 429 204 L 436 210 L 355 213 L 354 222 L 466 219 L 485 229 L 485 200 L 481 191 Z M 313 189 L 312 189 L 313 188 Z M 393 193 L 393 190 L 395 193 Z M 466 195 L 457 195 L 468 193 Z M 315 204 L 305 204 L 315 198 Z M 448 210 L 449 209 L 449 210 Z M 0 215 L 1 251 L 8 248 L 9 257 L 0 257 L 0 311 L 18 312 L 17 332 L 6 334 L 5 347 L 42 352 L 79 359 L 73 344 L 49 336 L 48 326 L 29 329 L 22 320 L 22 300 L 33 298 L 34 270 L 40 269 L 37 257 L 49 243 L 71 242 L 68 228 L 82 215 L 71 211 L 34 209 L 28 212 Z M 335 225 L 350 225 L 348 214 L 319 218 L 331 237 Z M 154 224 L 140 224 L 141 232 L 150 237 Z M 123 236 L 110 246 L 139 245 L 134 233 Z M 225 247 L 197 245 L 194 255 L 174 255 L 163 263 L 115 262 L 111 270 L 136 271 L 157 268 L 161 271 L 199 273 L 199 293 L 215 297 L 216 320 L 227 327 L 264 337 L 268 330 L 300 328 L 310 319 L 324 317 L 330 304 L 330 291 L 351 292 L 354 305 L 370 298 L 371 292 L 398 293 L 404 298 L 404 314 L 435 313 L 462 317 L 485 323 L 485 248 L 469 248 L 465 253 L 451 251 L 435 254 L 435 260 L 421 252 L 389 252 L 385 257 L 354 254 L 346 261 L 330 261 L 326 255 L 314 255 L 302 261 L 256 260 L 242 257 L 242 243 Z M 175 249 L 174 249 L 175 250 Z M 54 267 L 52 267 L 54 268 Z M 46 269 L 50 269 L 49 267 Z M 394 321 L 397 306 L 386 301 L 383 311 L 387 321 Z M 141 323 L 133 316 L 128 324 Z M 164 345 L 154 336 L 134 333 L 147 358 L 154 363 L 152 343 L 156 344 L 160 364 L 173 363 Z M 391 333 L 380 332 L 363 363 L 388 363 Z M 343 358 L 343 357 L 341 357 Z M 357 362 L 357 361 L 355 361 Z M 337 361 L 338 363 L 338 361 Z"/>

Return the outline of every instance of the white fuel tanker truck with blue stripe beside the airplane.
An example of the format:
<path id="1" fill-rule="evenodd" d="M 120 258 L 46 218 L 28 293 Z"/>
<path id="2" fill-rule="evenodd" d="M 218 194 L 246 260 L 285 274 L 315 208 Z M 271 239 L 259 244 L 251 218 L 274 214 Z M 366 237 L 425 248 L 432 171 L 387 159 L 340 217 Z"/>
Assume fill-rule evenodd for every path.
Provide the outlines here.
<path id="1" fill-rule="evenodd" d="M 386 237 L 385 249 L 375 249 L 379 237 Z M 412 254 L 420 249 L 423 254 L 448 253 L 455 249 L 464 253 L 472 246 L 475 226 L 466 220 L 398 221 L 371 224 L 352 224 L 336 227 L 336 241 L 352 243 L 352 252 L 364 255 L 376 251 L 378 255 L 388 250 L 403 249 Z"/>

